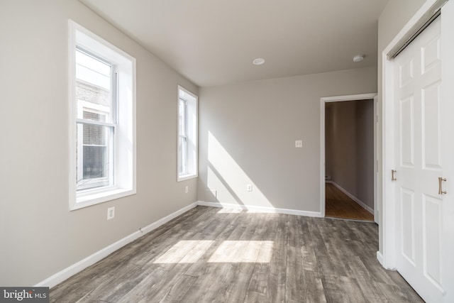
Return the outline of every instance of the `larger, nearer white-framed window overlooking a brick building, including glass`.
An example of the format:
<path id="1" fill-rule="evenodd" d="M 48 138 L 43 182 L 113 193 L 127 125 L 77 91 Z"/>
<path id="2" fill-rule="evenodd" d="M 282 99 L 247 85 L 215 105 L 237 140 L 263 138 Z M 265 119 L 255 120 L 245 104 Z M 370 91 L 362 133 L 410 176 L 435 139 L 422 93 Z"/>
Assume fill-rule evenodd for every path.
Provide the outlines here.
<path id="1" fill-rule="evenodd" d="M 135 59 L 70 21 L 70 209 L 135 194 Z"/>

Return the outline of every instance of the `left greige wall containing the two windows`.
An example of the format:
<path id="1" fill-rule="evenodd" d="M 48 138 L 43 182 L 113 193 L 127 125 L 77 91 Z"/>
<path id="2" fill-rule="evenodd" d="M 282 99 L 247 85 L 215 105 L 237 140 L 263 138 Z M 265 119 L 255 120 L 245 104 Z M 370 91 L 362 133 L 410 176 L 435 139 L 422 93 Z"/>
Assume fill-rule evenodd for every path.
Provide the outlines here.
<path id="1" fill-rule="evenodd" d="M 68 18 L 137 59 L 137 194 L 76 211 Z M 196 201 L 196 180 L 176 182 L 177 84 L 194 84 L 75 0 L 2 0 L 0 41 L 0 285 L 35 285 Z"/>

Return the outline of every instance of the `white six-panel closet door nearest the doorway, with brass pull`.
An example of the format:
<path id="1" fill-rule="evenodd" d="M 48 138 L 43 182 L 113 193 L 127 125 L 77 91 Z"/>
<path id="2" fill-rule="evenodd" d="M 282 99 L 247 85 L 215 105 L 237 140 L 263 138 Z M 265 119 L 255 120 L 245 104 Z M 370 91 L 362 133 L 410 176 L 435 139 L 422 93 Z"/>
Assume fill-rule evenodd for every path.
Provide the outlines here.
<path id="1" fill-rule="evenodd" d="M 438 18 L 396 57 L 394 74 L 397 270 L 428 302 L 444 293 L 440 45 Z"/>

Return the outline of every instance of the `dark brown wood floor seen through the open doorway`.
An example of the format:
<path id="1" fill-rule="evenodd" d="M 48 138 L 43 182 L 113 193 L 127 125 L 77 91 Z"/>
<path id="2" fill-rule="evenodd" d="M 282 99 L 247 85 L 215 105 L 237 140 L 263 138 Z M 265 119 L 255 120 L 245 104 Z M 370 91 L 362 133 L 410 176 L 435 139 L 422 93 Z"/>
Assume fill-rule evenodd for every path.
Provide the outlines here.
<path id="1" fill-rule="evenodd" d="M 329 182 L 326 183 L 325 205 L 325 216 L 331 218 L 374 221 L 374 215 Z"/>

